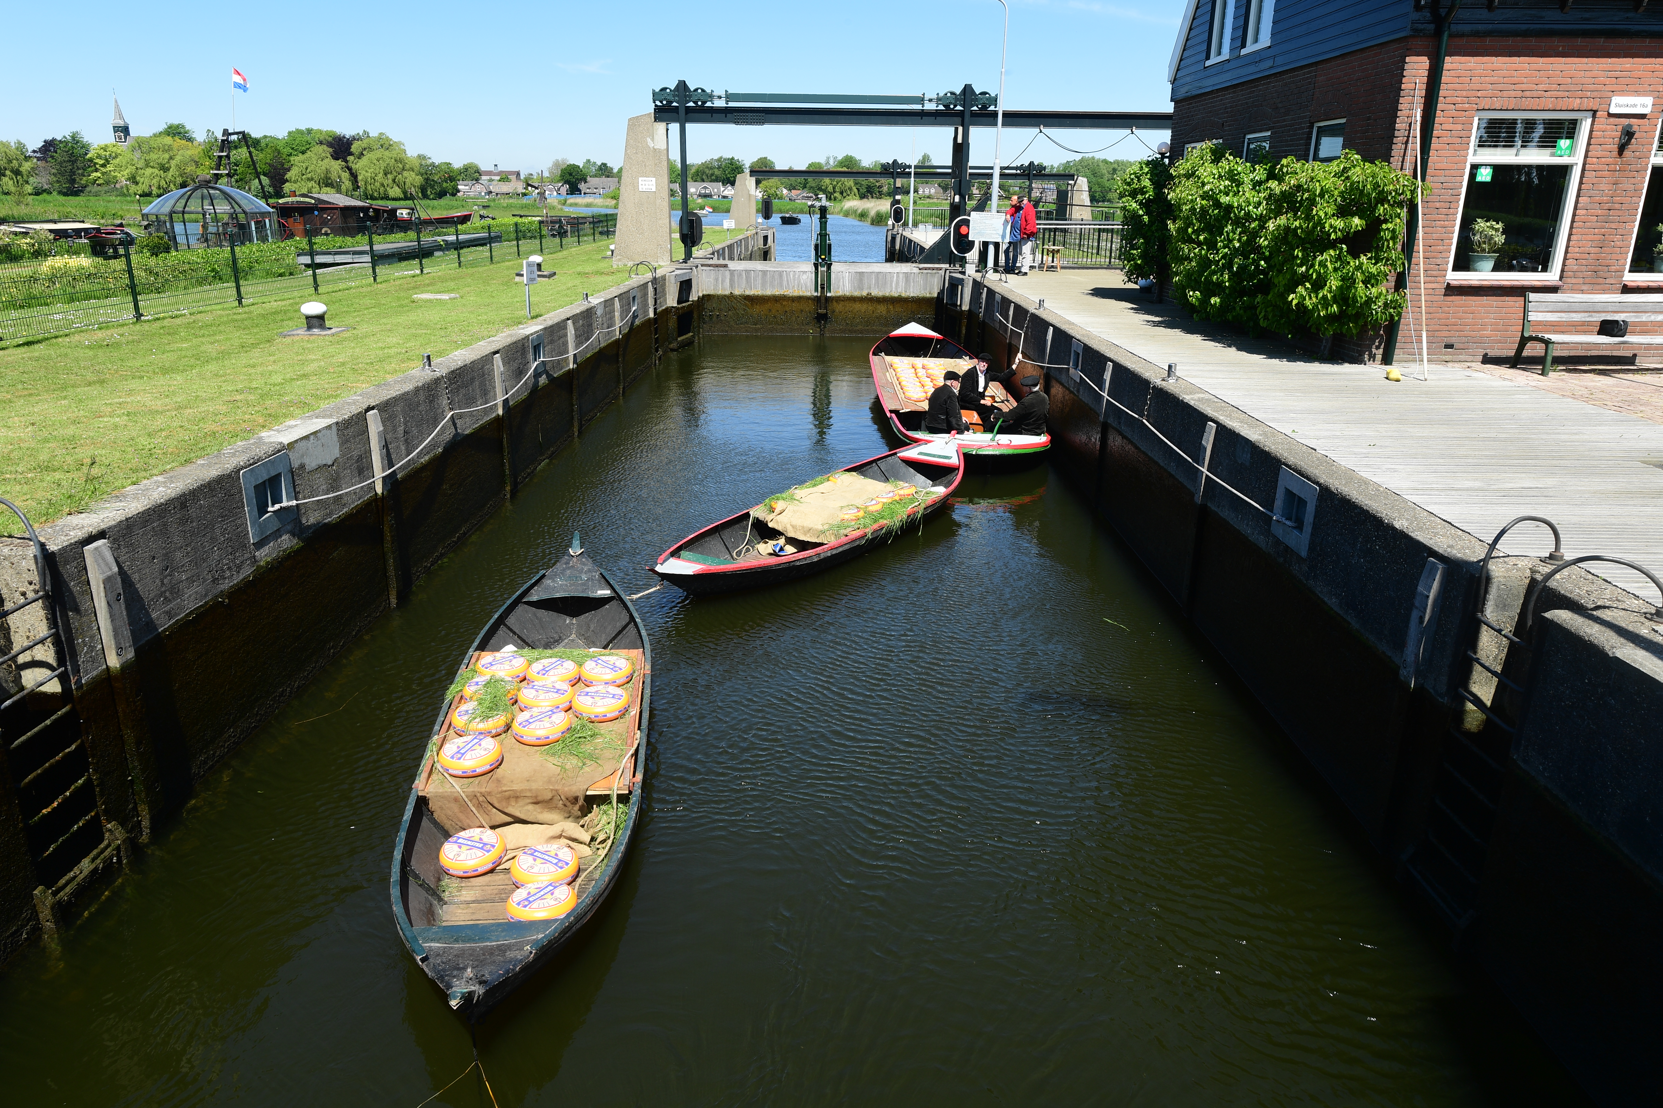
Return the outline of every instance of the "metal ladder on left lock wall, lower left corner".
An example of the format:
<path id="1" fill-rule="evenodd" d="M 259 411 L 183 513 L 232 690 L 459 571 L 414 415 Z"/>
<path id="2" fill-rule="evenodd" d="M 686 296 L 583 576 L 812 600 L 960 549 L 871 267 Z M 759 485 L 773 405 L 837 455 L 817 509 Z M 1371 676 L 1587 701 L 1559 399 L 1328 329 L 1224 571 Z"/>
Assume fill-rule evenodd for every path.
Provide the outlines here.
<path id="1" fill-rule="evenodd" d="M 28 862 L 37 882 L 35 910 L 42 930 L 55 937 L 62 927 L 60 909 L 111 860 L 125 865 L 131 859 L 131 847 L 121 826 L 113 821 L 106 824 L 100 812 L 98 784 L 75 704 L 68 643 L 58 628 L 52 601 L 47 550 L 22 508 L 5 498 L 0 498 L 0 505 L 22 520 L 35 555 L 35 593 L 0 608 L 0 620 L 40 605 L 47 628 L 0 656 L 0 668 L 7 669 L 0 673 L 5 678 L 0 696 L 10 693 L 0 703 L 0 769 L 8 777 L 15 819 L 22 824 L 28 846 Z M 33 673 L 25 676 L 27 663 L 20 664 L 20 659 L 48 643 L 55 646 L 57 668 L 38 679 Z M 47 686 L 53 681 L 58 681 L 58 688 L 48 691 Z M 8 816 L 12 814 L 0 811 L 0 819 Z"/>

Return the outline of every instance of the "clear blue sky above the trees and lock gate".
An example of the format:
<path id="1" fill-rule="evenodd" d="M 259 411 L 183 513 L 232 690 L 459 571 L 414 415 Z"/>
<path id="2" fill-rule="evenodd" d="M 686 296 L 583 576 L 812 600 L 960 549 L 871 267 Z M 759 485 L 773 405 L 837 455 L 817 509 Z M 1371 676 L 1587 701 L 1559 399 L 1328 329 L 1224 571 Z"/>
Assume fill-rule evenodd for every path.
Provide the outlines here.
<path id="1" fill-rule="evenodd" d="M 1182 0 L 1009 5 L 1006 106 L 1171 110 L 1166 65 Z M 215 8 L 213 18 L 233 10 Z M 998 0 L 905 7 L 853 0 L 835 8 L 647 0 L 471 10 L 414 0 L 244 13 L 258 30 L 206 35 L 193 17 L 181 17 L 181 37 L 173 40 L 161 23 L 135 25 L 131 5 L 81 3 L 76 25 L 131 28 L 118 37 L 121 48 L 75 70 L 65 70 L 62 50 L 10 51 L 0 138 L 37 146 L 80 130 L 95 143 L 108 141 L 111 86 L 135 133 L 171 121 L 196 133 L 229 126 L 234 65 L 249 80 L 249 91 L 236 93 L 236 121 L 254 133 L 386 131 L 411 153 L 504 169 L 542 168 L 554 158 L 617 164 L 624 121 L 650 110 L 652 88 L 679 78 L 718 91 L 906 95 L 965 81 L 994 90 L 1003 15 Z M 675 33 L 679 25 L 692 33 Z M 55 42 L 62 33 L 55 8 L 13 12 L 12 42 Z M 308 37 L 316 45 L 306 45 Z M 688 130 L 688 151 L 693 159 L 768 154 L 782 166 L 802 166 L 828 153 L 908 159 L 913 138 L 901 128 L 705 126 Z M 975 138 L 971 154 L 984 164 L 991 131 Z M 1004 159 L 1014 161 L 1033 138 L 1033 130 L 1008 133 Z M 1083 151 L 1121 140 L 1104 158 L 1147 153 L 1139 138 L 1152 146 L 1166 136 L 1058 133 Z M 945 161 L 951 135 L 920 130 L 916 143 L 918 153 Z M 1071 156 L 1039 138 L 1024 159 Z"/>

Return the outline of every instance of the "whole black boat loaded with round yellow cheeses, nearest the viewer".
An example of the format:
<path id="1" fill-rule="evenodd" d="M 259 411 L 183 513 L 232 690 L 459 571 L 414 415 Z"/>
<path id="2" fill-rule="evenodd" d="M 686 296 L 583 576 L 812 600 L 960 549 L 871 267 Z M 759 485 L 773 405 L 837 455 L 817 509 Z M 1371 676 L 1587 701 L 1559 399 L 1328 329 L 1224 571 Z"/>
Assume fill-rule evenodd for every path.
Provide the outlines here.
<path id="1" fill-rule="evenodd" d="M 469 1018 L 580 927 L 635 827 L 652 655 L 572 552 L 491 621 L 446 693 L 392 859 L 411 954 Z"/>

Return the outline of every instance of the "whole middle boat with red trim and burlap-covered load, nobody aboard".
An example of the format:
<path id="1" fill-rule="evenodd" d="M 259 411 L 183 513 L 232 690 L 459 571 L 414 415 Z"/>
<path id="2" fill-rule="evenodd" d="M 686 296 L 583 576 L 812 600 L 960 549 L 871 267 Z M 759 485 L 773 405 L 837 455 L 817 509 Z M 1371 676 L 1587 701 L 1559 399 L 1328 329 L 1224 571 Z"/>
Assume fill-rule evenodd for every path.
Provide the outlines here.
<path id="1" fill-rule="evenodd" d="M 851 500 L 853 492 L 836 490 L 840 475 L 865 478 L 860 483 L 846 482 L 850 490 L 871 492 L 876 488 L 871 482 L 888 488 L 890 493 L 878 493 L 878 498 L 893 502 L 893 507 L 833 505 L 845 507 L 846 513 L 830 532 L 803 530 L 800 520 L 783 513 L 787 502 L 795 503 L 793 493 L 800 490 L 808 490 L 805 497 L 815 495 L 822 503 Z M 891 538 L 908 527 L 921 527 L 928 517 L 946 507 L 963 475 L 965 465 L 956 442 L 923 442 L 880 453 L 817 482 L 805 482 L 755 508 L 688 535 L 659 555 L 652 571 L 693 596 L 793 581 L 848 561 L 878 540 Z M 825 493 L 813 492 L 827 485 L 830 488 L 825 488 Z M 876 523 L 863 525 L 861 515 L 866 513 Z M 830 533 L 832 538 L 798 538 L 790 535 L 790 530 L 808 535 Z"/>

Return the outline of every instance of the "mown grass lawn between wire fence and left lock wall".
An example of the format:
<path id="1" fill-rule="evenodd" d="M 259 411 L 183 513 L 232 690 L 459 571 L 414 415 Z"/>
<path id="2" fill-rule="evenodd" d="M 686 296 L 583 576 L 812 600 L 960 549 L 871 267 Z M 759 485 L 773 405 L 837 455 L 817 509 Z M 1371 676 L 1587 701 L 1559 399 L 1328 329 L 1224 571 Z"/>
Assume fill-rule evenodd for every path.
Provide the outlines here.
<path id="1" fill-rule="evenodd" d="M 710 238 L 705 239 L 707 243 Z M 629 279 L 610 241 L 545 251 L 559 276 L 532 286 L 542 316 Z M 105 326 L 0 349 L 0 497 L 35 523 L 195 462 L 284 420 L 526 322 L 512 256 L 326 291 L 324 339 L 279 339 L 306 296 Z M 416 292 L 459 292 L 416 301 Z"/>

